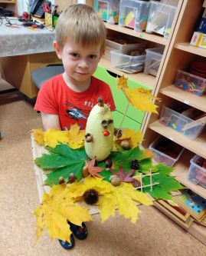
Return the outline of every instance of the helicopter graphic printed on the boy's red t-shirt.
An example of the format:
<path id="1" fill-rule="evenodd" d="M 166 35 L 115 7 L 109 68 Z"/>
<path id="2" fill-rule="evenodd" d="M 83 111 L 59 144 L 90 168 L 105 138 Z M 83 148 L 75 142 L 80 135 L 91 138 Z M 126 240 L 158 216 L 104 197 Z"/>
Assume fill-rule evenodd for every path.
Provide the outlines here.
<path id="1" fill-rule="evenodd" d="M 77 108 L 77 106 L 71 104 L 69 101 L 66 101 L 64 104 L 70 107 L 66 109 L 66 115 L 75 121 L 87 119 L 90 114 L 89 110 Z"/>

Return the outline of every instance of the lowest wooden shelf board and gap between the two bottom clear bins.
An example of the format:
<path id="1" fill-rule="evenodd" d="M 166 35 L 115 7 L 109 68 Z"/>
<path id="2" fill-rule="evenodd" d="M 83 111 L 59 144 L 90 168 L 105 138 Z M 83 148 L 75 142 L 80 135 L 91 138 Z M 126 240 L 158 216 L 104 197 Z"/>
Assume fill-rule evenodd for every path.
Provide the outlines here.
<path id="1" fill-rule="evenodd" d="M 182 185 L 191 189 L 196 194 L 199 194 L 202 198 L 206 199 L 206 189 L 200 185 L 194 185 L 191 181 L 188 181 L 188 169 L 190 167 L 190 159 L 195 154 L 191 151 L 185 150 L 181 155 L 181 158 L 177 161 L 175 165 L 175 171 L 172 172 L 172 175 L 175 176 L 175 179 L 181 182 Z"/>

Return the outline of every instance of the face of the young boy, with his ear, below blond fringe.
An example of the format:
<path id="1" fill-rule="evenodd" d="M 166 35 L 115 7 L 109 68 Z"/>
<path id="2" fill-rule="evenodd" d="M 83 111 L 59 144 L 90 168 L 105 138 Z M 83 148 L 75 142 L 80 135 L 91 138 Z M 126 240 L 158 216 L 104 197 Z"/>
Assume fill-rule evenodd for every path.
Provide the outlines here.
<path id="1" fill-rule="evenodd" d="M 96 71 L 101 57 L 100 45 L 85 48 L 67 40 L 63 49 L 58 48 L 57 42 L 54 42 L 54 48 L 72 81 L 87 81 Z"/>

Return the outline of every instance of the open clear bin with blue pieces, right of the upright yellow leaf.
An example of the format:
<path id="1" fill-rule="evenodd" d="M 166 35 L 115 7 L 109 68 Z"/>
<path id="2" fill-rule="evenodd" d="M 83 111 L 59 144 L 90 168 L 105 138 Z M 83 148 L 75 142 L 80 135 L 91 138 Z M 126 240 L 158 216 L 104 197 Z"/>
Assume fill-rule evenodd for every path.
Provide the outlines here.
<path id="1" fill-rule="evenodd" d="M 197 122 L 197 126 L 190 128 L 188 130 L 182 131 L 182 128 L 188 123 L 194 121 L 194 119 L 189 118 L 191 114 L 195 115 L 195 118 L 202 115 L 204 112 L 195 109 L 189 108 L 188 105 L 178 105 L 173 102 L 172 104 L 168 104 L 167 106 L 162 106 L 161 115 L 159 121 L 162 125 L 173 128 L 175 131 L 178 131 L 185 137 L 194 140 L 200 135 L 201 131 L 204 128 L 204 124 L 199 125 Z"/>

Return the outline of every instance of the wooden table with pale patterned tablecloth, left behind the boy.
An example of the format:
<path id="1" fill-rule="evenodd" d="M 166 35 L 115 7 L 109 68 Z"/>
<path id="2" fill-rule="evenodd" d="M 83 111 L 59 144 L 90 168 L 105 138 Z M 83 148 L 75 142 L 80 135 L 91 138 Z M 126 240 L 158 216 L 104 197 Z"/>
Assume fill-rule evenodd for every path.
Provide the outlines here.
<path id="1" fill-rule="evenodd" d="M 60 63 L 53 48 L 55 32 L 47 28 L 31 29 L 22 26 L 18 18 L 9 19 L 15 25 L 7 27 L 2 19 L 0 26 L 0 71 L 11 85 L 28 98 L 34 98 L 38 89 L 31 81 L 31 71 Z"/>

